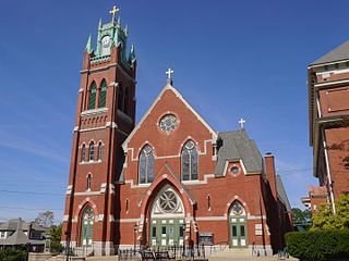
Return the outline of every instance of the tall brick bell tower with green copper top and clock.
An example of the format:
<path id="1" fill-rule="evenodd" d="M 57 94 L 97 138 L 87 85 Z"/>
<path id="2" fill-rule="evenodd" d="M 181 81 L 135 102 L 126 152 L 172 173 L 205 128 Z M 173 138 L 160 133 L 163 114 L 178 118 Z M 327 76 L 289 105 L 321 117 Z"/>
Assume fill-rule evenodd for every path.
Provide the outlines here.
<path id="1" fill-rule="evenodd" d="M 118 11 L 110 11 L 111 22 L 99 21 L 97 45 L 91 35 L 83 54 L 62 229 L 63 244 L 76 254 L 109 256 L 119 240 L 116 185 L 121 145 L 135 124 L 136 59 Z"/>

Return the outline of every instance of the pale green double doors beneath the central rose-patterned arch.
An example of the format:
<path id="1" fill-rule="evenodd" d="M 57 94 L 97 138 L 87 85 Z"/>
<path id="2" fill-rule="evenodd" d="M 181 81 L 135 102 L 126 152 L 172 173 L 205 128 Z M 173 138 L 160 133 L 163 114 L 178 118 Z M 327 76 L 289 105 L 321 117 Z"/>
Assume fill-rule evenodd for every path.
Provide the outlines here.
<path id="1" fill-rule="evenodd" d="M 153 219 L 151 225 L 152 246 L 181 246 L 184 239 L 184 219 Z"/>

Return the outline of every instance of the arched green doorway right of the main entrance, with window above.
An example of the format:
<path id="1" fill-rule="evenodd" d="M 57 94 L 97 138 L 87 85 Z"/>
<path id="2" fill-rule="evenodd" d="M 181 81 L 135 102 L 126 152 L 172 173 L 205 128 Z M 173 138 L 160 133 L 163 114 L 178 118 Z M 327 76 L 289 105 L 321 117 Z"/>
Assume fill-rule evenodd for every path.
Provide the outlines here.
<path id="1" fill-rule="evenodd" d="M 249 247 L 246 212 L 238 200 L 232 203 L 229 212 L 229 237 L 231 248 Z"/>

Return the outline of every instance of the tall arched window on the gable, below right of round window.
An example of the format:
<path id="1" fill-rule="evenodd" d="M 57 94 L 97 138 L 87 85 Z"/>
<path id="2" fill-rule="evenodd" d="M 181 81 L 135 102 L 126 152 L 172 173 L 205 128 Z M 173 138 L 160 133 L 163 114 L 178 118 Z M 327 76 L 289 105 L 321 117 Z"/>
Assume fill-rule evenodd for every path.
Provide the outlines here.
<path id="1" fill-rule="evenodd" d="M 188 140 L 182 149 L 182 181 L 197 179 L 198 158 L 196 145 L 193 140 Z"/>

